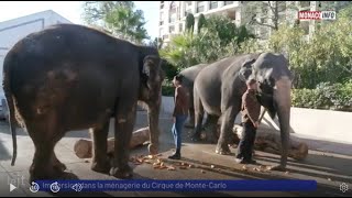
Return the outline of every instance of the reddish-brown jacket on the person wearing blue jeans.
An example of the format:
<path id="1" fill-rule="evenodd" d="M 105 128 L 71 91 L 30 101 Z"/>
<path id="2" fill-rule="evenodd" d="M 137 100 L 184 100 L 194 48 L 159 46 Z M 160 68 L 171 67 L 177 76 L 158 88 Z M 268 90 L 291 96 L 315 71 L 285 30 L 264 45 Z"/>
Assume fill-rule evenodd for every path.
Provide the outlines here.
<path id="1" fill-rule="evenodd" d="M 179 86 L 175 89 L 175 109 L 173 117 L 188 114 L 189 94 L 186 88 Z"/>

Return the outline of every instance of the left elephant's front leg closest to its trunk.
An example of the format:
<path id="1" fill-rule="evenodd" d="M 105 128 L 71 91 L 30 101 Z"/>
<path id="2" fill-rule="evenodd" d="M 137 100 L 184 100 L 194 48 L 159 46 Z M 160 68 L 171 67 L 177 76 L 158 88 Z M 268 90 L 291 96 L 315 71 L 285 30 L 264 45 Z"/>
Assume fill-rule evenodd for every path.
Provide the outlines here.
<path id="1" fill-rule="evenodd" d="M 127 97 L 129 98 L 129 97 Z M 136 100 L 134 100 L 136 101 Z M 131 178 L 132 168 L 129 166 L 130 142 L 136 117 L 136 102 L 129 100 L 120 101 L 116 116 L 114 128 L 114 157 L 110 175 L 117 178 Z"/>

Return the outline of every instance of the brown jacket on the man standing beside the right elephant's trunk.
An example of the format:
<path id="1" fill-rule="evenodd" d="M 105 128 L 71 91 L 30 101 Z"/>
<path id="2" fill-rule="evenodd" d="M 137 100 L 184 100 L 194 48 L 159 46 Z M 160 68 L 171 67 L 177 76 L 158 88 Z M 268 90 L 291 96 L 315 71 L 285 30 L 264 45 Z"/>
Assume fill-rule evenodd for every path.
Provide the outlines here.
<path id="1" fill-rule="evenodd" d="M 255 90 L 248 89 L 242 96 L 242 122 L 252 121 L 254 124 L 258 121 L 261 114 L 261 105 L 256 99 Z"/>

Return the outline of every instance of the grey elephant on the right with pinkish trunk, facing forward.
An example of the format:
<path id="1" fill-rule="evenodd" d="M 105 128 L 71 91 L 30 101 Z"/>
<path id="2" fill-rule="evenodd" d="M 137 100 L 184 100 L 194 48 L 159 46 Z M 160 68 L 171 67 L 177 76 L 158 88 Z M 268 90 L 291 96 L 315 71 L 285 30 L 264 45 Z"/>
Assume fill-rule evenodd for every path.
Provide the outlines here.
<path id="1" fill-rule="evenodd" d="M 220 138 L 216 152 L 229 154 L 229 136 L 233 121 L 241 110 L 245 81 L 258 81 L 258 100 L 272 118 L 278 116 L 283 153 L 280 165 L 285 169 L 289 144 L 292 74 L 283 55 L 271 53 L 232 56 L 204 68 L 194 84 L 195 139 L 199 139 L 204 113 L 220 117 Z"/>

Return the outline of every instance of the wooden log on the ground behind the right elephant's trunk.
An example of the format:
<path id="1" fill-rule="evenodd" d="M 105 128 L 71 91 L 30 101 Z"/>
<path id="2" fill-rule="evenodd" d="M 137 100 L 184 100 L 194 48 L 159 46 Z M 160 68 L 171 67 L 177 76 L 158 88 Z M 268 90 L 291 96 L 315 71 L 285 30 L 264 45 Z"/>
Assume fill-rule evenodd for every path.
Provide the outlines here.
<path id="1" fill-rule="evenodd" d="M 233 128 L 233 132 L 235 133 L 237 136 L 242 139 L 242 127 L 235 125 Z M 257 130 L 254 148 L 268 152 L 268 153 L 280 154 L 282 143 L 280 143 L 279 132 L 276 132 L 270 129 Z M 301 161 L 301 160 L 305 160 L 307 155 L 308 155 L 308 145 L 304 142 L 299 142 L 297 139 L 290 138 L 288 156 L 297 161 Z"/>

